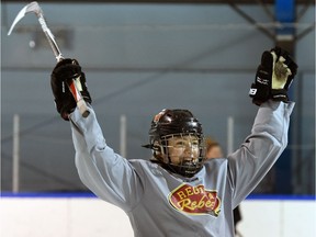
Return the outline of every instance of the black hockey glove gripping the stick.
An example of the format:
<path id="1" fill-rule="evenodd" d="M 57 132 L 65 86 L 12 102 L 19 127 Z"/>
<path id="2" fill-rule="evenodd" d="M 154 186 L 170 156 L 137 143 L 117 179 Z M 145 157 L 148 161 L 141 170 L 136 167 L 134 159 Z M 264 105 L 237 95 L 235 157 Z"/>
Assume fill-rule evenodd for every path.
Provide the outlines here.
<path id="1" fill-rule="evenodd" d="M 50 86 L 55 98 L 56 110 L 60 116 L 68 121 L 68 115 L 75 110 L 77 103 L 67 86 L 72 79 L 80 80 L 80 93 L 83 100 L 91 103 L 91 97 L 87 89 L 86 76 L 81 71 L 81 67 L 76 59 L 66 58 L 59 61 L 52 75 Z"/>

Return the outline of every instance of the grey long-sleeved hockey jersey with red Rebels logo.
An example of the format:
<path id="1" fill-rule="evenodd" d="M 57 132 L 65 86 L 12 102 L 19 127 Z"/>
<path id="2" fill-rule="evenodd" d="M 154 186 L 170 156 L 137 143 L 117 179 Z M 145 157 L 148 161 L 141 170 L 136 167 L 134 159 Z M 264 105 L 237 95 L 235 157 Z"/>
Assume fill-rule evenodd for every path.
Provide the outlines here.
<path id="1" fill-rule="evenodd" d="M 93 109 L 71 114 L 76 166 L 100 199 L 128 215 L 137 237 L 230 237 L 233 208 L 256 188 L 287 144 L 294 103 L 262 104 L 251 134 L 227 158 L 211 159 L 193 178 L 147 160 L 127 160 L 105 143 Z"/>

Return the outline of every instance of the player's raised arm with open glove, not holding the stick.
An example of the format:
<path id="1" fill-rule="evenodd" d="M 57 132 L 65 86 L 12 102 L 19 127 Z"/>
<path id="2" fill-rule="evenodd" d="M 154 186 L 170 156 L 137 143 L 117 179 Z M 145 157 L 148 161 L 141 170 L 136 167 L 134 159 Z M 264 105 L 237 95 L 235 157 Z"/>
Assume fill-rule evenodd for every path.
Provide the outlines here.
<path id="1" fill-rule="evenodd" d="M 294 108 L 287 90 L 296 71 L 297 65 L 284 49 L 263 52 L 249 91 L 252 102 L 259 105 L 251 134 L 228 157 L 235 205 L 258 185 L 287 145 Z"/>

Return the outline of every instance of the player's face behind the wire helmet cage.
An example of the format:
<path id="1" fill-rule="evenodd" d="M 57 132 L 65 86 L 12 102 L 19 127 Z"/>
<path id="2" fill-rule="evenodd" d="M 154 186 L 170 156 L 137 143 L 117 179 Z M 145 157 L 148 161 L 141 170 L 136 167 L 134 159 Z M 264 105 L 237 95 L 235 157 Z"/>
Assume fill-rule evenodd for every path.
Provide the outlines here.
<path id="1" fill-rule="evenodd" d="M 168 155 L 173 165 L 195 163 L 199 153 L 200 145 L 196 136 L 174 136 L 168 139 Z"/>

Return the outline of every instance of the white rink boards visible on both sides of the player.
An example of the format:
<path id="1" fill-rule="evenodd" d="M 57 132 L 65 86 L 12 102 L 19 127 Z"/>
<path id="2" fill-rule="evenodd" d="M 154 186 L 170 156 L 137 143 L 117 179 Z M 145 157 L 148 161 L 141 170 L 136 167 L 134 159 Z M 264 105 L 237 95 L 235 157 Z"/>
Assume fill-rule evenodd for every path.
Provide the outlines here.
<path id="1" fill-rule="evenodd" d="M 315 200 L 246 200 L 242 237 L 316 236 Z M 2 198 L 1 237 L 133 237 L 127 215 L 95 198 Z"/>

